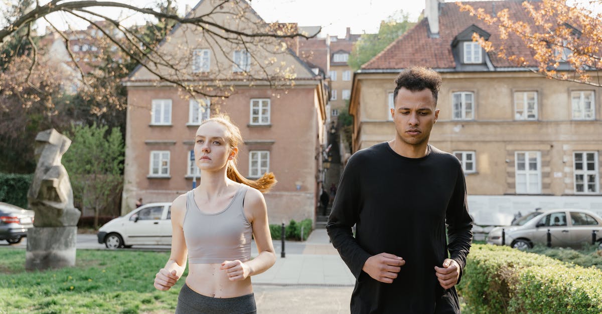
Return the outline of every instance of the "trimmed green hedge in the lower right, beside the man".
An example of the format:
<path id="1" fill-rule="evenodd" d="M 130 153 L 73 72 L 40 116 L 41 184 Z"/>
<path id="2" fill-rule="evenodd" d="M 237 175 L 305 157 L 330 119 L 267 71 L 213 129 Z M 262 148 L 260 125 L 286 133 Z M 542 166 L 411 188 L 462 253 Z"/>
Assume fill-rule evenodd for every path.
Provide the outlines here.
<path id="1" fill-rule="evenodd" d="M 473 245 L 458 286 L 474 313 L 602 313 L 602 271 L 510 247 Z"/>

